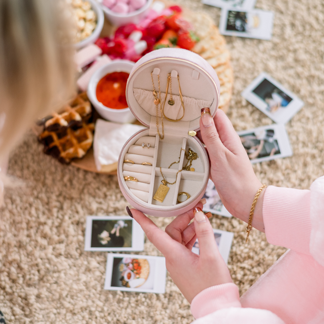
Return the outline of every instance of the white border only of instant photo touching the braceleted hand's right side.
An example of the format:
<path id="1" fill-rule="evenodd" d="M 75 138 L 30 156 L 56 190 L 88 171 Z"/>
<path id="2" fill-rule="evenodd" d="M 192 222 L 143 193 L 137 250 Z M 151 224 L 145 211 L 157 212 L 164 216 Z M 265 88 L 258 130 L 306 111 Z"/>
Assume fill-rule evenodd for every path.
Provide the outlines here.
<path id="1" fill-rule="evenodd" d="M 246 135 L 249 133 L 254 133 L 255 131 L 260 131 L 260 130 L 269 130 L 273 129 L 274 134 L 276 136 L 276 140 L 279 145 L 279 150 L 280 154 L 272 155 L 272 156 L 264 156 L 260 158 L 256 158 L 253 160 L 250 160 L 251 163 L 258 163 L 258 162 L 263 162 L 263 161 L 271 161 L 274 159 L 278 158 L 283 158 L 283 157 L 288 157 L 293 155 L 293 149 L 290 145 L 289 137 L 286 131 L 286 128 L 284 124 L 270 124 L 270 125 L 265 125 L 257 128 L 252 128 L 248 129 L 245 131 L 240 131 L 237 132 L 239 136 Z"/>

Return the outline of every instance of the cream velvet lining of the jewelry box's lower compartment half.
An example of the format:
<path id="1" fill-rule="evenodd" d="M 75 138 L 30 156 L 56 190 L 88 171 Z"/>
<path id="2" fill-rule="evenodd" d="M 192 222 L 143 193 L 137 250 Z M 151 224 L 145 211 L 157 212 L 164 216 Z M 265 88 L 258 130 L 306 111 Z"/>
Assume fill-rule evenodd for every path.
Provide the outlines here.
<path id="1" fill-rule="evenodd" d="M 134 144 L 133 144 L 134 143 Z M 142 143 L 147 145 L 150 143 L 150 148 L 146 146 L 143 148 Z M 189 144 L 190 143 L 190 144 Z M 153 146 L 154 145 L 154 146 Z M 168 184 L 169 191 L 162 203 L 153 199 L 159 186 L 162 184 L 162 173 L 168 182 L 174 182 L 178 170 L 181 170 L 183 165 L 186 164 L 184 151 L 188 152 L 189 147 L 198 154 L 199 158 L 192 162 L 192 167 L 195 171 L 182 170 L 179 172 L 175 184 Z M 160 140 L 158 134 L 156 136 L 141 136 L 140 138 L 131 139 L 126 145 L 124 153 L 124 160 L 131 160 L 134 164 L 122 164 L 122 176 L 131 176 L 138 181 L 124 181 L 126 184 L 125 190 L 129 191 L 135 199 L 139 199 L 145 203 L 157 206 L 173 206 L 178 204 L 177 198 L 179 192 L 187 192 L 191 196 L 191 200 L 200 193 L 199 189 L 203 187 L 203 180 L 205 178 L 204 170 L 206 169 L 206 158 L 203 148 L 189 136 L 189 138 L 174 137 L 173 142 Z M 181 155 L 180 155 L 181 152 Z M 174 161 L 180 162 L 173 164 L 170 168 L 169 165 Z M 149 162 L 152 166 L 142 165 L 143 162 Z M 186 203 L 187 201 L 182 202 Z"/>

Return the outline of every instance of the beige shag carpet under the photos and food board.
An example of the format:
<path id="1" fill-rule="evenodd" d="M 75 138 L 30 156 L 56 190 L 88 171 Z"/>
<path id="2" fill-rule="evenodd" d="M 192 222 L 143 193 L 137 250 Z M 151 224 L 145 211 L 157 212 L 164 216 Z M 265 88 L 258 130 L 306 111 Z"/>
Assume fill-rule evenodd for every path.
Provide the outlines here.
<path id="1" fill-rule="evenodd" d="M 181 5 L 219 22 L 220 9 L 199 1 Z M 324 174 L 324 3 L 258 0 L 273 10 L 271 41 L 226 37 L 234 68 L 228 116 L 237 130 L 272 121 L 240 96 L 266 71 L 305 101 L 287 124 L 294 156 L 254 166 L 263 183 L 307 189 Z M 190 323 L 190 305 L 168 275 L 164 295 L 103 290 L 106 253 L 85 252 L 87 215 L 124 215 L 126 201 L 116 176 L 63 166 L 42 153 L 33 134 L 12 153 L 9 174 L 24 187 L 7 189 L 0 210 L 0 309 L 8 323 Z M 155 218 L 161 227 L 171 219 Z M 285 251 L 245 226 L 215 216 L 215 228 L 235 233 L 229 258 L 233 281 L 244 293 Z M 160 255 L 148 241 L 142 254 Z"/>

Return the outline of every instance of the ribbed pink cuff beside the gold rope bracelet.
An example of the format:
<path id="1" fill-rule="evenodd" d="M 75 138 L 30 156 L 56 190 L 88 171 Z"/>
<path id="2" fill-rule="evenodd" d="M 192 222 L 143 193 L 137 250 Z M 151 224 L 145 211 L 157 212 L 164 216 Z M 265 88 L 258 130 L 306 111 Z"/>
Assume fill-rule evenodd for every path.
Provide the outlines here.
<path id="1" fill-rule="evenodd" d="M 270 244 L 310 254 L 310 191 L 269 186 L 263 198 L 263 223 Z"/>

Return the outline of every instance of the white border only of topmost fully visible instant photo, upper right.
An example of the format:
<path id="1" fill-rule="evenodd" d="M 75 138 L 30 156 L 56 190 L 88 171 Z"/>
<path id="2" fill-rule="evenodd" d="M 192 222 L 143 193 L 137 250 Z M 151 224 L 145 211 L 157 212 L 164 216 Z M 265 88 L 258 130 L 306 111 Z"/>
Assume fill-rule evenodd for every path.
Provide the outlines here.
<path id="1" fill-rule="evenodd" d="M 244 31 L 241 32 L 241 31 L 237 31 L 237 30 L 226 30 L 229 11 L 254 13 L 254 14 L 262 16 L 260 21 L 264 25 L 259 27 L 260 28 L 259 34 L 254 34 L 251 32 L 244 32 Z M 262 32 L 261 29 L 262 29 L 262 31 L 266 31 L 266 32 Z M 264 40 L 264 41 L 270 41 L 272 38 L 272 29 L 273 29 L 273 12 L 272 11 L 264 11 L 261 9 L 253 9 L 253 10 L 244 9 L 243 10 L 238 7 L 226 8 L 226 9 L 222 10 L 221 17 L 219 20 L 219 32 L 222 35 L 226 35 L 226 36 L 237 36 L 237 37 L 254 38 L 254 39 L 260 39 L 260 40 Z"/>

